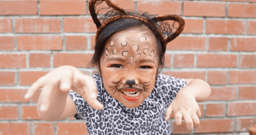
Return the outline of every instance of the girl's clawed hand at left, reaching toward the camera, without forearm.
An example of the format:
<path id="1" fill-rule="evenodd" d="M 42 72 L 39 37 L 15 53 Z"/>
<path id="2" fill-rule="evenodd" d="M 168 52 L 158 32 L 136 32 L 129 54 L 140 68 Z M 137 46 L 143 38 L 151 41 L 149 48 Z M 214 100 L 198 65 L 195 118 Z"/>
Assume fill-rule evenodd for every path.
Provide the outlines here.
<path id="1" fill-rule="evenodd" d="M 40 77 L 31 85 L 24 98 L 30 99 L 39 88 L 42 88 L 39 107 L 41 111 L 48 110 L 52 104 L 51 98 L 58 98 L 53 97 L 54 94 L 61 92 L 68 95 L 70 89 L 81 95 L 92 108 L 103 109 L 103 105 L 97 100 L 97 88 L 93 78 L 73 66 L 61 66 Z"/>

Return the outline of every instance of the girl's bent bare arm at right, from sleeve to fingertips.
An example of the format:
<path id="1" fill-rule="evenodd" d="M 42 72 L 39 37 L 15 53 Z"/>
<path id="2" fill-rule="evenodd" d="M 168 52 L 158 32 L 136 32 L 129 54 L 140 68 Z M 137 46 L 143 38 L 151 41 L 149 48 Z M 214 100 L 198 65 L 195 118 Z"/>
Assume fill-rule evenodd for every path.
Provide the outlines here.
<path id="1" fill-rule="evenodd" d="M 186 79 L 187 86 L 180 89 L 165 112 L 165 120 L 169 120 L 174 113 L 174 120 L 177 126 L 184 118 L 188 131 L 199 126 L 201 117 L 200 108 L 197 102 L 205 101 L 211 93 L 208 83 L 201 79 Z"/>

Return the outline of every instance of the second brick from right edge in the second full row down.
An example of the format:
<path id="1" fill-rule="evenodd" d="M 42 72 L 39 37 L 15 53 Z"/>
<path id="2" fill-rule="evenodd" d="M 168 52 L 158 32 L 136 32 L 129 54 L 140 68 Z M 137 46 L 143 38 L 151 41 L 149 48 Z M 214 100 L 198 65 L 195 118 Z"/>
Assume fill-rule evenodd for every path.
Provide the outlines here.
<path id="1" fill-rule="evenodd" d="M 206 33 L 214 34 L 245 34 L 246 21 L 206 20 Z"/>

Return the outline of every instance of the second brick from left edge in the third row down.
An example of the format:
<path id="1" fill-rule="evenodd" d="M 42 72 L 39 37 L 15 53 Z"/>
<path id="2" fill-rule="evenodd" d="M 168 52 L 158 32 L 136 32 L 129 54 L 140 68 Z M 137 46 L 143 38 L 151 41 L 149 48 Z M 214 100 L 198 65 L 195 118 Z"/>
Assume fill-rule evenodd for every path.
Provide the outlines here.
<path id="1" fill-rule="evenodd" d="M 62 36 L 17 36 L 18 50 L 62 50 Z"/>

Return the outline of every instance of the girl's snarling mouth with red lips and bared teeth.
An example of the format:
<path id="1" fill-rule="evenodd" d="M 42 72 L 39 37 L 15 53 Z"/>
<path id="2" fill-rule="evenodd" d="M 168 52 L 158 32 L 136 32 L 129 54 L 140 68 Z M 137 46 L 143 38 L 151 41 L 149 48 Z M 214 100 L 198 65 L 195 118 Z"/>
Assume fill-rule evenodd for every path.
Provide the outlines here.
<path id="1" fill-rule="evenodd" d="M 120 92 L 123 94 L 123 97 L 129 101 L 137 101 L 141 97 L 141 90 L 138 89 L 122 89 Z"/>

